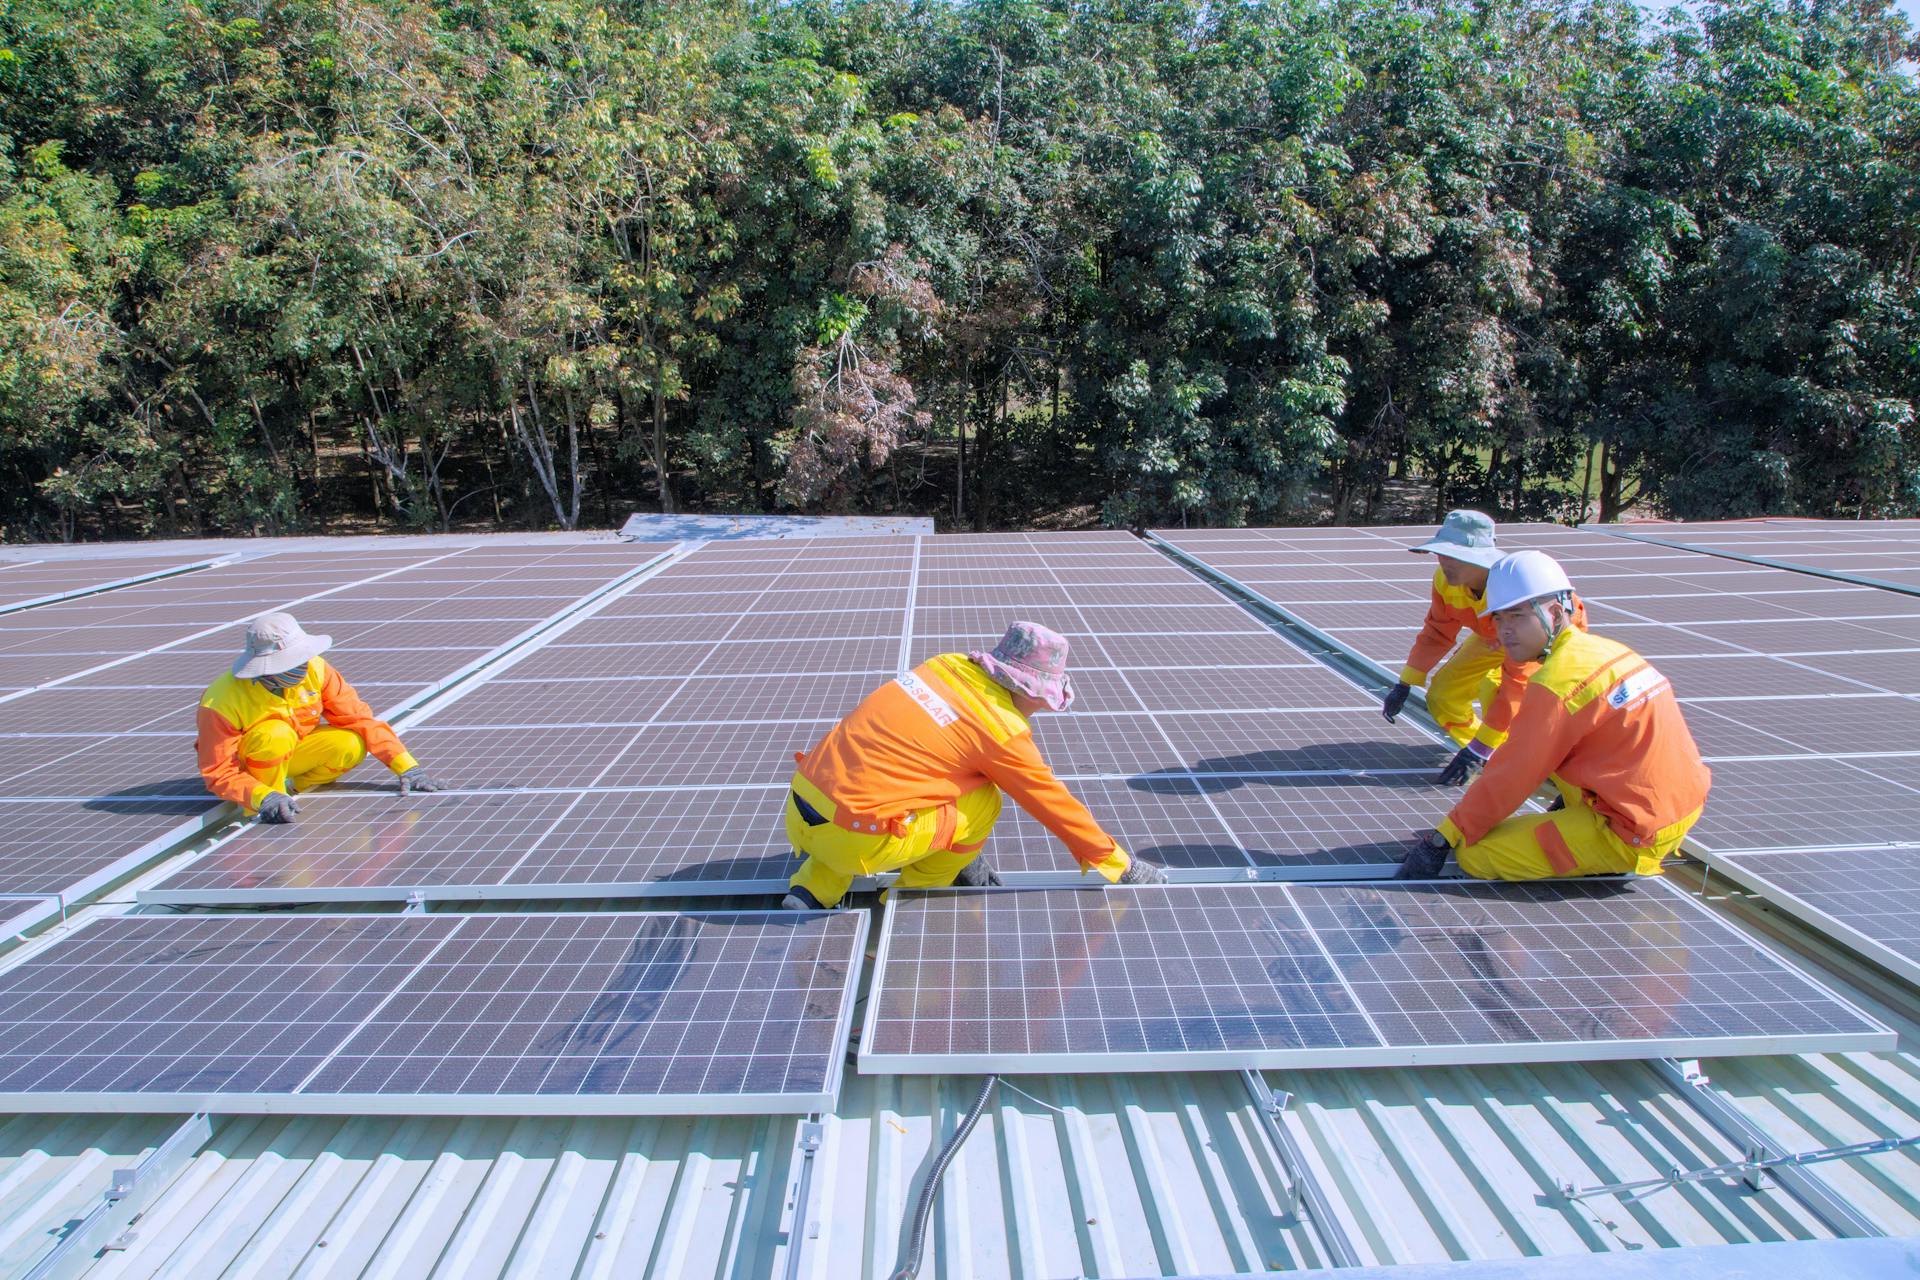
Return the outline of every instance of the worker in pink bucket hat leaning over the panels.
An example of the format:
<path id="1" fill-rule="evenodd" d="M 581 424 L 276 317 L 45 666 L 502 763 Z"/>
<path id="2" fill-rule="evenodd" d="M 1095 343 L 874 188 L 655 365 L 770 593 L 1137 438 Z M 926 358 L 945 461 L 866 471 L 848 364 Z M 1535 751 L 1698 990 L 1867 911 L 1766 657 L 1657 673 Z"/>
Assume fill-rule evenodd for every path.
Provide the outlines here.
<path id="1" fill-rule="evenodd" d="M 993 652 L 943 652 L 897 676 L 797 756 L 787 841 L 804 860 L 781 906 L 835 906 L 854 877 L 899 871 L 902 889 L 998 885 L 975 860 L 1006 791 L 1060 837 L 1081 869 L 1158 885 L 1046 768 L 1031 718 L 1073 702 L 1068 641 L 1016 622 Z"/>

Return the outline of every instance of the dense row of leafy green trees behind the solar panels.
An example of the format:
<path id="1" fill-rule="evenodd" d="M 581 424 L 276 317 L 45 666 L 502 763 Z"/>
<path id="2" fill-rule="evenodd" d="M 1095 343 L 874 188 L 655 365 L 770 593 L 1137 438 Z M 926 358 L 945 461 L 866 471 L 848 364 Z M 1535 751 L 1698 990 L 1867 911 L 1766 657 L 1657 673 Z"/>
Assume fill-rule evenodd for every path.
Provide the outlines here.
<path id="1" fill-rule="evenodd" d="M 0 535 L 1920 514 L 1916 52 L 1876 0 L 13 0 Z"/>

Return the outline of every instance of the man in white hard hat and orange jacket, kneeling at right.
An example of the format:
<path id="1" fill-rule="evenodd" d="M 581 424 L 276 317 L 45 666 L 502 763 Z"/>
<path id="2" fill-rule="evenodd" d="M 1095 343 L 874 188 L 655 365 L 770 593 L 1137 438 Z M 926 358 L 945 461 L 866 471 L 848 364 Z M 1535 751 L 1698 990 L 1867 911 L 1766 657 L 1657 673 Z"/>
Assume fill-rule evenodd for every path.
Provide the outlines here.
<path id="1" fill-rule="evenodd" d="M 1572 583 L 1542 551 L 1494 566 L 1486 614 L 1509 654 L 1538 658 L 1513 739 L 1407 852 L 1396 879 L 1430 879 L 1448 850 L 1478 879 L 1659 875 L 1699 821 L 1713 781 L 1672 685 L 1619 641 L 1572 626 Z M 1544 814 L 1517 814 L 1540 783 Z"/>

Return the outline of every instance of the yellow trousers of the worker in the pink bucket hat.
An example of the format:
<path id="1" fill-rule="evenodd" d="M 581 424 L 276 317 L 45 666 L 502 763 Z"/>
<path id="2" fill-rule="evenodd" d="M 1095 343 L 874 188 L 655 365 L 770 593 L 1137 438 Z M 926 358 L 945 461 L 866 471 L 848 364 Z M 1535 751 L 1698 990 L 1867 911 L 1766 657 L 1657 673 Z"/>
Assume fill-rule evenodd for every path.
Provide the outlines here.
<path id="1" fill-rule="evenodd" d="M 947 848 L 933 848 L 941 825 L 941 810 L 920 810 L 912 816 L 906 835 L 883 831 L 847 831 L 833 825 L 833 806 L 824 798 L 814 810 L 829 821 L 806 825 L 793 793 L 787 793 L 787 841 L 804 858 L 789 881 L 804 889 L 820 906 L 833 906 L 847 896 L 856 875 L 899 871 L 900 889 L 941 889 L 952 885 L 960 869 L 979 858 L 1000 818 L 1000 789 L 993 783 L 968 791 L 954 800 L 954 833 Z"/>

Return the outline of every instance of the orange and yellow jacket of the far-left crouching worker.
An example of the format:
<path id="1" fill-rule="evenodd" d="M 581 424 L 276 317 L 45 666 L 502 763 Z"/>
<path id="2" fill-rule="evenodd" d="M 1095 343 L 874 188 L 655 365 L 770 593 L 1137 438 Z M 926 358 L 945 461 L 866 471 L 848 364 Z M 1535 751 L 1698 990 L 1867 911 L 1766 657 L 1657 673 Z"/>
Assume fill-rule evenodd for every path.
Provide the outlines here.
<path id="1" fill-rule="evenodd" d="M 307 664 L 307 677 L 286 695 L 232 674 L 223 674 L 207 685 L 200 699 L 200 739 L 194 745 L 207 791 L 250 810 L 259 808 L 271 789 L 248 773 L 246 760 L 240 758 L 240 739 L 263 720 L 280 720 L 300 737 L 307 737 L 321 727 L 323 718 L 336 729 L 357 733 L 367 750 L 396 773 L 419 764 L 399 745 L 392 725 L 376 718 L 353 693 L 353 685 L 330 662 L 315 658 Z"/>

